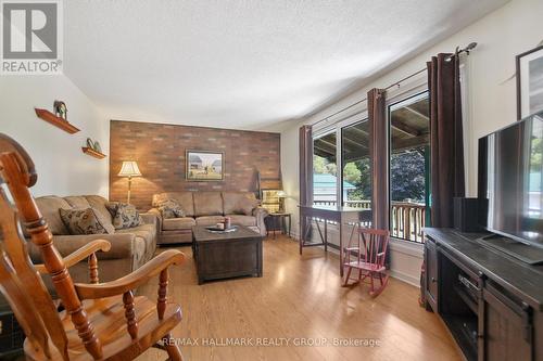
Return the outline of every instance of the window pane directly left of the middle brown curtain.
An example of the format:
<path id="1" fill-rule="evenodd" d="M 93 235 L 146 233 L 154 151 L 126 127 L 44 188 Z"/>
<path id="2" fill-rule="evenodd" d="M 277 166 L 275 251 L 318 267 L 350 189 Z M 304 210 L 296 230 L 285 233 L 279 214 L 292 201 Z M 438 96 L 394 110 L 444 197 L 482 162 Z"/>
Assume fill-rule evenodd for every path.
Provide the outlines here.
<path id="1" fill-rule="evenodd" d="M 371 208 L 371 172 L 367 119 L 341 129 L 343 206 Z"/>

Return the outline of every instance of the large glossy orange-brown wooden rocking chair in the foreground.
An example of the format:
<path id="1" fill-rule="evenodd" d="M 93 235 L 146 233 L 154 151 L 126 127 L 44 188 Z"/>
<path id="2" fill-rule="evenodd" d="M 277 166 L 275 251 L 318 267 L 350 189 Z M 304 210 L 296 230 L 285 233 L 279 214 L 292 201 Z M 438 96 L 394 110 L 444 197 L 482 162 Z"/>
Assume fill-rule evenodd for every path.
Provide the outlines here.
<path id="1" fill-rule="evenodd" d="M 181 320 L 181 309 L 166 302 L 166 289 L 168 267 L 182 263 L 185 255 L 171 249 L 124 278 L 98 283 L 94 253 L 109 250 L 110 244 L 96 241 L 62 258 L 30 195 L 29 188 L 36 180 L 28 154 L 0 133 L 0 291 L 26 335 L 27 359 L 131 360 L 156 346 L 167 351 L 168 360 L 182 360 L 177 346 L 169 341 L 171 330 Z M 31 263 L 20 233 L 20 219 L 31 242 L 39 246 L 45 265 Z M 67 267 L 87 257 L 92 283 L 74 284 Z M 64 310 L 58 311 L 40 273 L 51 275 Z M 135 288 L 156 275 L 156 302 L 134 296 Z M 157 344 L 160 340 L 163 345 Z"/>

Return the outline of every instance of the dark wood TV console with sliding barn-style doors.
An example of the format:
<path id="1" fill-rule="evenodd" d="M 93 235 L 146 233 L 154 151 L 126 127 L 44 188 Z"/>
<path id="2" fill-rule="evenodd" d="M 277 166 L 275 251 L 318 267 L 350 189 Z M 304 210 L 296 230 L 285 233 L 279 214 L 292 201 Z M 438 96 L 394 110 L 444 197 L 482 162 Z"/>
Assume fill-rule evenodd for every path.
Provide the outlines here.
<path id="1" fill-rule="evenodd" d="M 482 236 L 425 229 L 427 309 L 469 361 L 543 361 L 543 266 L 483 246 Z"/>

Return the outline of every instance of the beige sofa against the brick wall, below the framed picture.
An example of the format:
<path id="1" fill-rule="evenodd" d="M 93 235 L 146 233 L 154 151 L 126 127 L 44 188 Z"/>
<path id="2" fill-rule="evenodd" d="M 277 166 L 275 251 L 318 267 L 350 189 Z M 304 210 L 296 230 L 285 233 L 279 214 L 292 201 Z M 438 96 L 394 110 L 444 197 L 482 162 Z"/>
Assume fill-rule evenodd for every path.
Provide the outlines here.
<path id="1" fill-rule="evenodd" d="M 240 214 L 236 207 L 240 197 L 250 198 L 255 206 L 247 214 Z M 159 204 L 175 199 L 185 211 L 184 218 L 163 219 Z M 159 219 L 159 244 L 192 242 L 192 225 L 213 225 L 225 216 L 232 224 L 247 225 L 262 235 L 266 235 L 264 218 L 266 209 L 258 207 L 254 193 L 240 192 L 166 192 L 153 195 L 153 207 L 149 212 Z"/>

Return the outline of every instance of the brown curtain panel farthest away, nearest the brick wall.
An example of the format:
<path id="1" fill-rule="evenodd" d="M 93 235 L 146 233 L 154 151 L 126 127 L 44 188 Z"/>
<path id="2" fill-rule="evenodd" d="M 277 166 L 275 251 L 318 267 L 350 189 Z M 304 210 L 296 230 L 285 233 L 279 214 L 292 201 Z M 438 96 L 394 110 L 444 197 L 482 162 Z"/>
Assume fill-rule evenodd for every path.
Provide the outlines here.
<path id="1" fill-rule="evenodd" d="M 300 128 L 300 205 L 313 205 L 313 131 L 311 126 Z M 300 217 L 300 237 L 304 236 L 306 221 Z"/>

